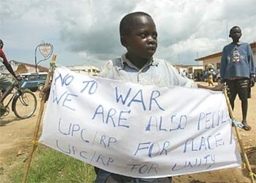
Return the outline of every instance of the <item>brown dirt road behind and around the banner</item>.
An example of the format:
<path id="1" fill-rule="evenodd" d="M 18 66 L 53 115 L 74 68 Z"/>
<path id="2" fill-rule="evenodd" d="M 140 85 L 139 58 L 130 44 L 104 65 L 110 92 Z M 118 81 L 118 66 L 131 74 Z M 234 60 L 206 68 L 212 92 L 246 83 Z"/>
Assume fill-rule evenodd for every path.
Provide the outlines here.
<path id="1" fill-rule="evenodd" d="M 206 85 L 206 83 L 203 83 Z M 35 93 L 38 96 L 38 93 Z M 250 132 L 239 129 L 242 142 L 244 143 L 247 157 L 253 171 L 256 172 L 256 87 L 252 88 L 252 98 L 249 100 L 249 110 L 247 121 L 252 127 Z M 19 120 L 11 112 L 9 116 L 0 118 L 0 182 L 11 182 L 6 176 L 14 164 L 22 163 L 22 158 L 28 155 L 28 150 L 33 138 L 37 114 L 39 112 L 40 99 L 38 98 L 38 108 L 35 116 L 30 119 Z M 241 121 L 241 102 L 236 99 L 234 116 Z M 199 174 L 189 174 L 174 177 L 174 182 L 250 182 L 246 169 L 223 169 L 220 171 L 210 171 Z"/>

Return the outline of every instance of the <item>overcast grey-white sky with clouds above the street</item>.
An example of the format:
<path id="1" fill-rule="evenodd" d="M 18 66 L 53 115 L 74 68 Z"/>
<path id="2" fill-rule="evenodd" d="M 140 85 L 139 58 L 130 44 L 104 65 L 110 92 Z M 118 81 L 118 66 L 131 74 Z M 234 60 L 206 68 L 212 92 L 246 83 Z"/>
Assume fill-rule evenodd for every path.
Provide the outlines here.
<path id="1" fill-rule="evenodd" d="M 129 12 L 150 14 L 158 31 L 155 57 L 173 64 L 222 51 L 228 32 L 242 29 L 241 41 L 256 41 L 256 0 L 1 0 L 0 38 L 9 60 L 35 64 L 35 48 L 54 46 L 63 66 L 95 64 L 126 52 L 119 22 Z M 43 59 L 36 51 L 37 61 Z M 50 60 L 50 59 L 49 59 Z M 49 66 L 49 60 L 40 62 Z"/>

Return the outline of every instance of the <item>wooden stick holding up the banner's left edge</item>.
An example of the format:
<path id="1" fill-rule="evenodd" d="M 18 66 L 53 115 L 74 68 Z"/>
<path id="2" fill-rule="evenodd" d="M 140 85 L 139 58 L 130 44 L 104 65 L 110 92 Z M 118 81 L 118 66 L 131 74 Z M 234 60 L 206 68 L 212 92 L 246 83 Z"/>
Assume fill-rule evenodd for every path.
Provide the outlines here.
<path id="1" fill-rule="evenodd" d="M 48 74 L 47 74 L 47 77 L 46 77 L 46 80 L 45 80 L 45 86 L 44 86 L 42 91 L 45 91 L 45 88 L 49 87 L 50 79 L 51 79 L 51 77 L 53 77 L 53 72 L 54 72 L 54 69 L 56 68 L 56 65 L 55 65 L 56 57 L 57 57 L 56 54 L 53 54 L 53 58 L 50 62 L 49 71 L 48 71 Z M 32 161 L 33 152 L 35 151 L 35 149 L 38 145 L 38 131 L 40 129 L 40 123 L 41 123 L 41 119 L 42 119 L 42 116 L 43 116 L 43 111 L 44 111 L 44 108 L 45 108 L 45 101 L 46 101 L 47 95 L 48 95 L 47 93 L 43 93 L 43 95 L 41 96 L 40 111 L 39 111 L 39 114 L 38 114 L 38 117 L 37 117 L 37 120 L 36 120 L 35 132 L 34 132 L 33 140 L 32 140 L 32 148 L 30 150 L 30 153 L 28 155 L 28 160 L 27 160 L 27 163 L 25 165 L 25 172 L 23 174 L 23 179 L 22 179 L 23 183 L 27 182 L 28 170 L 30 168 L 30 163 Z"/>

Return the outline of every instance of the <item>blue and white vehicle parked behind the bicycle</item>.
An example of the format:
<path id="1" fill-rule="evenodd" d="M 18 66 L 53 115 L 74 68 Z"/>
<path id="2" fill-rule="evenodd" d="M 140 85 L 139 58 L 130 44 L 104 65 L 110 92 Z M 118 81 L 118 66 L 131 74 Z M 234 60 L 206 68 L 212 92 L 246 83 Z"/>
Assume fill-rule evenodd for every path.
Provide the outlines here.
<path id="1" fill-rule="evenodd" d="M 47 72 L 24 73 L 20 74 L 20 77 L 22 78 L 20 81 L 22 88 L 28 88 L 33 92 L 41 91 L 45 86 Z"/>

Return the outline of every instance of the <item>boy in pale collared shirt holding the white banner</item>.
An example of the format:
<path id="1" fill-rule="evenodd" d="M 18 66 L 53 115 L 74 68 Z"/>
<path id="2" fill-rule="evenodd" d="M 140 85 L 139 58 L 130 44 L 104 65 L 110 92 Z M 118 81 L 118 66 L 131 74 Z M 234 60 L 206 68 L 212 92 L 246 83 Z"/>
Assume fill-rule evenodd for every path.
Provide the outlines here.
<path id="1" fill-rule="evenodd" d="M 150 15 L 144 12 L 127 14 L 120 22 L 119 31 L 121 44 L 127 49 L 127 53 L 106 62 L 101 77 L 155 84 L 160 87 L 179 85 L 208 88 L 182 77 L 169 62 L 153 57 L 157 48 L 157 32 Z M 221 88 L 222 85 L 219 85 L 210 89 L 221 90 Z M 95 182 L 171 182 L 171 177 L 139 179 L 113 174 L 99 168 L 95 168 L 95 172 Z"/>

